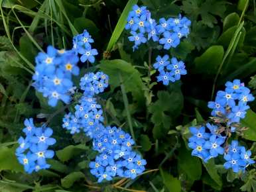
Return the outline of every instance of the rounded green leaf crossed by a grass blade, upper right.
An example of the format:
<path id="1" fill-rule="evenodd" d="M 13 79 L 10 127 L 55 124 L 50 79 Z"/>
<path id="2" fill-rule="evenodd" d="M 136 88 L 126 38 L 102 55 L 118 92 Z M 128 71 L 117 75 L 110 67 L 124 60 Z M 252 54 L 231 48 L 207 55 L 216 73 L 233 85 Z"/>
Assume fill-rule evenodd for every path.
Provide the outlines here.
<path id="1" fill-rule="evenodd" d="M 232 39 L 232 37 L 235 34 L 235 31 L 237 30 L 237 26 L 232 26 L 231 28 L 228 28 L 225 30 L 224 33 L 218 38 L 217 44 L 222 45 L 225 49 L 229 46 L 229 43 Z M 243 41 L 245 40 L 245 28 L 241 28 L 241 37 L 237 43 L 237 47 L 241 47 L 243 45 Z"/>

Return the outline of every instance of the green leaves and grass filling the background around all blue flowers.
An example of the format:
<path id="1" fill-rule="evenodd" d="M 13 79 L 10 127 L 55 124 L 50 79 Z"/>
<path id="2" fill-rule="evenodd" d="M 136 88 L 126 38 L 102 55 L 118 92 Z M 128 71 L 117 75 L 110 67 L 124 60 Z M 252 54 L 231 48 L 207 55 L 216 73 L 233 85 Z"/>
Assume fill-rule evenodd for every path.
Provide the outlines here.
<path id="1" fill-rule="evenodd" d="M 152 61 L 157 44 L 133 52 L 123 30 L 137 0 L 0 0 L 0 191 L 256 191 L 255 165 L 245 175 L 222 167 L 221 160 L 203 164 L 186 146 L 188 126 L 202 123 L 207 102 L 227 80 L 241 79 L 256 95 L 256 7 L 254 0 L 141 0 L 155 19 L 186 15 L 192 21 L 187 39 L 170 54 L 184 60 L 188 75 L 165 87 L 156 83 Z M 105 124 L 134 134 L 147 171 L 135 180 L 96 183 L 88 164 L 96 156 L 82 134 L 62 127 L 67 110 L 51 108 L 31 87 L 34 56 L 48 44 L 71 48 L 72 36 L 86 28 L 99 51 L 97 69 L 110 77 L 99 101 Z M 152 52 L 152 55 L 151 55 Z M 80 65 L 81 75 L 87 72 Z M 253 76 L 254 75 L 254 76 Z M 74 79 L 78 86 L 79 77 Z M 72 106 L 68 106 L 72 110 Z M 243 120 L 249 127 L 241 144 L 256 155 L 256 101 Z M 56 156 L 51 168 L 28 175 L 15 158 L 23 120 L 46 120 L 54 129 Z M 238 138 L 238 136 L 235 136 Z"/>

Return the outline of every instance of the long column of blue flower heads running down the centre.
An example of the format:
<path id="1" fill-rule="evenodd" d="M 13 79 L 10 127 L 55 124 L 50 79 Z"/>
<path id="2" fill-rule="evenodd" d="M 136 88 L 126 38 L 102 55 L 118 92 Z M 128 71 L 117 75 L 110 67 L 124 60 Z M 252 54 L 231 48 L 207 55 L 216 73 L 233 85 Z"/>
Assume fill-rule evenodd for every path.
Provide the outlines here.
<path id="1" fill-rule="evenodd" d="M 108 76 L 102 72 L 88 73 L 80 80 L 84 95 L 75 106 L 75 113 L 68 113 L 63 119 L 63 128 L 71 134 L 83 130 L 93 140 L 94 150 L 99 152 L 90 163 L 91 173 L 98 178 L 111 180 L 115 176 L 135 178 L 145 170 L 146 161 L 133 152 L 135 143 L 121 128 L 103 126 L 102 109 L 94 95 L 108 86 Z"/>

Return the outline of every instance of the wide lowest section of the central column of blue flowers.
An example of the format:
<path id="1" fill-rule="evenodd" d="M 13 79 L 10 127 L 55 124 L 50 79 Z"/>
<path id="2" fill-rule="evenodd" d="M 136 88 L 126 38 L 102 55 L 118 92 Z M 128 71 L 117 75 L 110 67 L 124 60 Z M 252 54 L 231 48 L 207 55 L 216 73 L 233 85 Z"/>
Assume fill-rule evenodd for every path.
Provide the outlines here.
<path id="1" fill-rule="evenodd" d="M 132 150 L 134 143 L 121 128 L 107 126 L 97 132 L 93 145 L 99 155 L 90 163 L 90 168 L 98 182 L 116 176 L 135 179 L 145 170 L 147 162 Z"/>

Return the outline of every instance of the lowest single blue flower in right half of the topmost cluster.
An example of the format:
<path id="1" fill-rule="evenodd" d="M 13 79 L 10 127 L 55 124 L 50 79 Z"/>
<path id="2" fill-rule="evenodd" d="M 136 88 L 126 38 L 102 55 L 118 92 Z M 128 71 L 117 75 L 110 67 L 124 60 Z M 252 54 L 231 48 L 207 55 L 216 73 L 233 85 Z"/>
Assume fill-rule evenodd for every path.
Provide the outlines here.
<path id="1" fill-rule="evenodd" d="M 171 47 L 176 48 L 180 44 L 180 38 L 175 32 L 164 32 L 164 38 L 160 38 L 159 43 L 164 44 L 164 49 L 169 50 Z"/>

